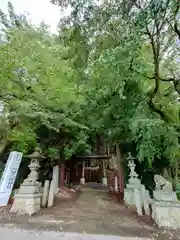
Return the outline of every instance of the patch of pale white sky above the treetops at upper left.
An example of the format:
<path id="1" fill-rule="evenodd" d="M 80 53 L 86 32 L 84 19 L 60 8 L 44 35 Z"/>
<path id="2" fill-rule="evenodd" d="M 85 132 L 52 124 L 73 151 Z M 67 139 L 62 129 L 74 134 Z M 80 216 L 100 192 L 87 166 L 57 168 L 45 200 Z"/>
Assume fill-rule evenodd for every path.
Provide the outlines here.
<path id="1" fill-rule="evenodd" d="M 56 26 L 62 13 L 60 9 L 50 3 L 50 0 L 11 0 L 16 13 L 29 13 L 29 18 L 33 24 L 44 21 L 50 25 L 50 31 L 55 33 Z M 8 0 L 0 0 L 0 9 L 7 13 Z"/>

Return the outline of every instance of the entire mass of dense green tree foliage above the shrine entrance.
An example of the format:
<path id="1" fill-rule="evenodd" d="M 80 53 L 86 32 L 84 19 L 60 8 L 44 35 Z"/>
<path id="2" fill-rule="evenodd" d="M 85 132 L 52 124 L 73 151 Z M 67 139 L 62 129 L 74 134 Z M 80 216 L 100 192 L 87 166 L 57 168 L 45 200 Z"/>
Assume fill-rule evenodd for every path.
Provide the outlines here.
<path id="1" fill-rule="evenodd" d="M 53 161 L 90 152 L 98 138 L 177 170 L 178 1 L 52 2 L 71 8 L 57 35 L 10 3 L 9 19 L 1 12 L 1 138 L 23 152 L 40 142 Z"/>

